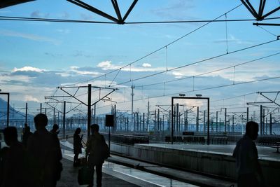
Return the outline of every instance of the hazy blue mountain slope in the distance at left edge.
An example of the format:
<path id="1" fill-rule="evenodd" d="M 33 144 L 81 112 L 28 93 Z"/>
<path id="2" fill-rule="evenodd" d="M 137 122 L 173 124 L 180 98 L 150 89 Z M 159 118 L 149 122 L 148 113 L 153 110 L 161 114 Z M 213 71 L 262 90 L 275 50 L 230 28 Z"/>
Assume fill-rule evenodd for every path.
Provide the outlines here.
<path id="1" fill-rule="evenodd" d="M 24 120 L 25 113 L 17 111 L 10 106 L 10 120 Z M 6 120 L 7 118 L 7 102 L 0 98 L 0 120 Z M 33 116 L 28 115 L 28 118 L 33 118 Z"/>

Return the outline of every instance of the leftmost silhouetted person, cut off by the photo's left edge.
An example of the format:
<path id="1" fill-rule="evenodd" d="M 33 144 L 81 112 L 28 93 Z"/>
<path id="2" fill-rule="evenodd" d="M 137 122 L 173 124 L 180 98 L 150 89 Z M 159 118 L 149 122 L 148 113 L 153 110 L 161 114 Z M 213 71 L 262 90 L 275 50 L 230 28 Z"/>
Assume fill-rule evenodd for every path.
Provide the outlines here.
<path id="1" fill-rule="evenodd" d="M 18 141 L 18 132 L 15 127 L 6 127 L 3 130 L 4 140 L 8 149 L 3 160 L 3 181 L 1 186 L 27 186 L 25 178 L 25 146 Z"/>

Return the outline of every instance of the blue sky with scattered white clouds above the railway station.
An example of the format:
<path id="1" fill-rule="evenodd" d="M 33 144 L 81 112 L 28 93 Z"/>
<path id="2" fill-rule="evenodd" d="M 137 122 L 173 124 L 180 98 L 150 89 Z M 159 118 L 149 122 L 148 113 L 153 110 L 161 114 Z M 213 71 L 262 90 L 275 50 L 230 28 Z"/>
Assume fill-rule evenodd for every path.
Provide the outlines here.
<path id="1" fill-rule="evenodd" d="M 84 2 L 116 17 L 109 0 Z M 125 15 L 132 1 L 118 3 Z M 132 85 L 134 111 L 140 113 L 147 112 L 148 101 L 151 111 L 158 109 L 156 105 L 168 110 L 171 97 L 179 93 L 209 97 L 211 112 L 223 107 L 244 111 L 247 102 L 267 102 L 256 92 L 279 91 L 280 43 L 276 39 L 280 30 L 254 26 L 255 20 L 230 22 L 253 19 L 240 4 L 237 0 L 140 0 L 125 25 L 0 20 L 0 89 L 10 92 L 15 108 L 22 109 L 28 102 L 29 113 L 37 113 L 40 103 L 48 111 L 51 106 L 61 109 L 61 103 L 44 98 L 65 96 L 59 86 L 86 102 L 87 88 L 65 87 L 88 84 L 107 88 L 100 92 L 92 88 L 92 103 L 118 88 L 110 99 L 97 103 L 97 113 L 110 112 L 115 104 L 118 110 L 131 113 Z M 258 1 L 252 4 L 258 9 Z M 264 13 L 278 6 L 279 0 L 267 1 Z M 57 0 L 1 8 L 0 16 L 111 22 L 69 1 Z M 279 16 L 277 11 L 267 18 Z M 216 18 L 228 21 L 132 24 Z M 279 23 L 279 19 L 262 22 Z M 267 97 L 274 98 L 275 93 Z M 69 102 L 68 111 L 78 104 L 67 97 L 59 97 L 59 102 L 63 99 Z M 197 100 L 180 102 L 205 107 Z M 259 109 L 250 107 L 250 111 Z M 72 113 L 85 112 L 83 104 L 76 109 Z"/>

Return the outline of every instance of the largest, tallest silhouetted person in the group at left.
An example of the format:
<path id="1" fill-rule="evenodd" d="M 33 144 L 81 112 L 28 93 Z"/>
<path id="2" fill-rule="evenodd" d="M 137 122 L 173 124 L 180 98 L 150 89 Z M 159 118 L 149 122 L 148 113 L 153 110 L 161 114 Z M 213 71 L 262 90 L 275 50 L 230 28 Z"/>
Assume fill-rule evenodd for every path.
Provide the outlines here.
<path id="1" fill-rule="evenodd" d="M 46 130 L 48 118 L 43 113 L 34 117 L 36 131 L 27 141 L 31 186 L 56 186 L 62 171 L 62 152 L 57 136 Z"/>

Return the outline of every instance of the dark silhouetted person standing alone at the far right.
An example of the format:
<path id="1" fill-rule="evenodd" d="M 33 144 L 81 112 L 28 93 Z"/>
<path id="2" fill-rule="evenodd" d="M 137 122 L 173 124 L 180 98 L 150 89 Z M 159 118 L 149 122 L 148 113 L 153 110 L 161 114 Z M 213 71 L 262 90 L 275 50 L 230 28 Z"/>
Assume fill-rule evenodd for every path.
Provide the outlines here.
<path id="1" fill-rule="evenodd" d="M 258 150 L 254 140 L 258 137 L 258 123 L 248 121 L 244 137 L 237 141 L 233 157 L 237 165 L 237 186 L 265 186 Z"/>

